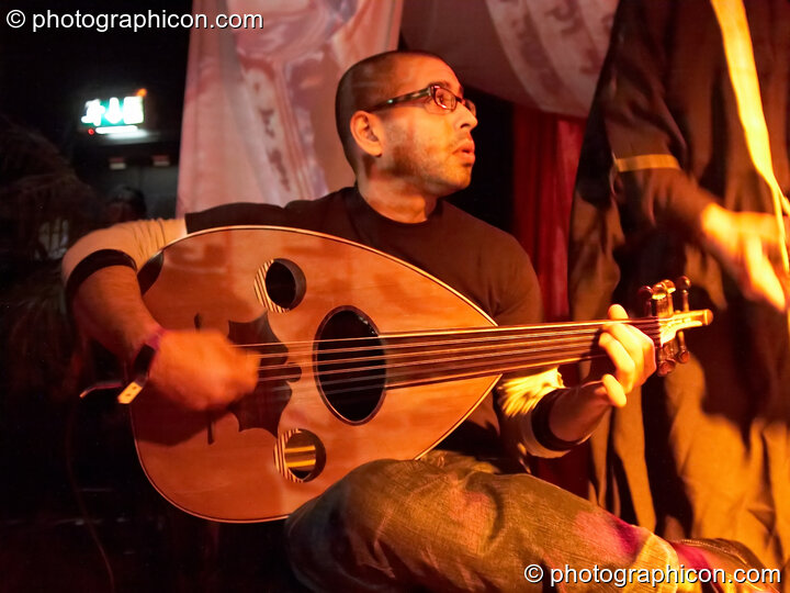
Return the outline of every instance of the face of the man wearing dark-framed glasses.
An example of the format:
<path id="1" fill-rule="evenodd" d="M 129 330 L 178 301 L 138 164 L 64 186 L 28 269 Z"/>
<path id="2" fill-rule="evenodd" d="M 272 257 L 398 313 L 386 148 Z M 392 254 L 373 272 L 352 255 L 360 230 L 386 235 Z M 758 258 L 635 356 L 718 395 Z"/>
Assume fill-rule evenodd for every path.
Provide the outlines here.
<path id="1" fill-rule="evenodd" d="M 397 96 L 439 83 L 458 97 L 463 89 L 437 58 L 406 58 L 397 67 Z M 477 120 L 463 103 L 442 110 L 430 97 L 376 112 L 383 122 L 379 168 L 426 194 L 443 197 L 469 186 L 474 165 L 472 130 Z"/>

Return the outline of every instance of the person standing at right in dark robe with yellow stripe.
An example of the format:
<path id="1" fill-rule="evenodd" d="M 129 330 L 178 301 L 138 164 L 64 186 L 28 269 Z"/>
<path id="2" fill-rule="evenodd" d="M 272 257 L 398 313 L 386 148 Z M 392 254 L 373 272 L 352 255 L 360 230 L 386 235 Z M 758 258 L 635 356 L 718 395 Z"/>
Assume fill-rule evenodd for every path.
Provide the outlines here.
<path id="1" fill-rule="evenodd" d="M 687 336 L 688 365 L 632 393 L 592 438 L 591 496 L 667 538 L 742 541 L 783 581 L 786 199 L 771 186 L 790 189 L 789 68 L 787 0 L 621 1 L 582 149 L 568 268 L 574 318 L 685 275 L 692 306 L 715 320 Z"/>

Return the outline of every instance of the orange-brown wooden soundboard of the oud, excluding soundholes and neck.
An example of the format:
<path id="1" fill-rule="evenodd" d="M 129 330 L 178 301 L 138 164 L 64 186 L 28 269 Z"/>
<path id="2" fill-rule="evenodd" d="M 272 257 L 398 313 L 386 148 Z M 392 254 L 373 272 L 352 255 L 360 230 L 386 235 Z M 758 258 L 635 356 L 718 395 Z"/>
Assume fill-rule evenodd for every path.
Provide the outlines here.
<path id="1" fill-rule="evenodd" d="M 304 276 L 301 302 L 283 309 L 266 295 L 261 270 L 287 261 Z M 258 278 L 258 281 L 256 280 Z M 140 272 L 144 300 L 168 328 L 255 326 L 264 318 L 282 344 L 316 339 L 330 312 L 364 313 L 379 334 L 493 326 L 467 299 L 398 259 L 351 242 L 279 227 L 226 227 L 190 235 Z M 386 347 L 385 354 L 386 354 Z M 392 389 L 361 422 L 342 419 L 313 376 L 315 353 L 289 353 L 301 376 L 274 426 L 236 412 L 190 413 L 150 388 L 131 406 L 143 468 L 180 508 L 215 521 L 283 517 L 350 470 L 380 458 L 425 454 L 483 400 L 498 374 Z M 249 402 L 248 402 L 249 403 Z M 258 402 L 263 406 L 267 402 Z M 255 407 L 255 406 L 253 406 Z M 316 475 L 282 467 L 282 441 L 315 435 L 325 458 Z"/>

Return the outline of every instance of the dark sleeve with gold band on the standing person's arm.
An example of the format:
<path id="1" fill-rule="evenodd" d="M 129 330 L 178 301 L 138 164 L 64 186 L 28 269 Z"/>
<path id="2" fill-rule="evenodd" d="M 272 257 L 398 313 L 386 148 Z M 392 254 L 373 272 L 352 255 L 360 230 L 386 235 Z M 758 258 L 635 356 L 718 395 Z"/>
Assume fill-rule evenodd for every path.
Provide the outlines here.
<path id="1" fill-rule="evenodd" d="M 697 227 L 701 211 L 715 198 L 688 175 L 688 138 L 667 98 L 669 32 L 676 2 L 629 0 L 616 18 L 607 65 L 598 87 L 611 172 L 629 224 L 679 223 Z M 689 48 L 691 49 L 691 48 Z M 699 80 L 699 86 L 708 85 Z M 706 94 L 704 88 L 684 92 Z"/>

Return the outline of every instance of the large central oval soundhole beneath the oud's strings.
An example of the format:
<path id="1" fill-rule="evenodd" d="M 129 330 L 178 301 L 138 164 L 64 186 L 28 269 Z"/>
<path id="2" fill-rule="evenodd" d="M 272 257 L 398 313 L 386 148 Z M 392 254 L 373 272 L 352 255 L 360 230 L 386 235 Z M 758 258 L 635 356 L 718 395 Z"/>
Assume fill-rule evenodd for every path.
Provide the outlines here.
<path id="1" fill-rule="evenodd" d="M 341 419 L 358 424 L 379 409 L 384 393 L 384 349 L 373 323 L 361 311 L 332 312 L 316 340 L 318 385 Z"/>

